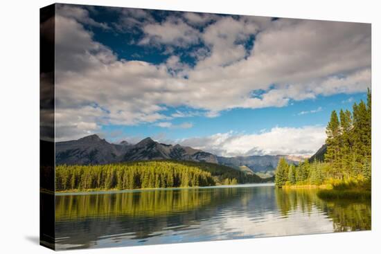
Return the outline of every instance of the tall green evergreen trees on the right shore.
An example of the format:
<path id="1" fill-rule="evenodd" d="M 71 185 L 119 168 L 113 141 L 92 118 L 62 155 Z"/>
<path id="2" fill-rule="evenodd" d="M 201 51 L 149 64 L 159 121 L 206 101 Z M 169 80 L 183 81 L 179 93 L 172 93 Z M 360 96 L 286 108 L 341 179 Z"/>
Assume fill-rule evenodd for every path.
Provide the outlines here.
<path id="1" fill-rule="evenodd" d="M 337 116 L 336 111 L 333 111 L 326 127 L 326 134 L 325 163 L 317 162 L 315 158 L 313 163 L 303 161 L 295 169 L 291 165 L 287 183 L 321 185 L 330 179 L 339 183 L 348 183 L 353 179 L 370 183 L 371 91 L 368 89 L 366 103 L 364 101 L 360 101 L 358 105 L 355 103 L 352 112 L 340 110 Z M 278 170 L 276 176 L 276 185 L 283 185 L 285 181 L 283 171 Z M 353 186 L 346 184 L 345 188 L 348 190 Z M 355 192 L 350 194 L 353 193 Z"/>

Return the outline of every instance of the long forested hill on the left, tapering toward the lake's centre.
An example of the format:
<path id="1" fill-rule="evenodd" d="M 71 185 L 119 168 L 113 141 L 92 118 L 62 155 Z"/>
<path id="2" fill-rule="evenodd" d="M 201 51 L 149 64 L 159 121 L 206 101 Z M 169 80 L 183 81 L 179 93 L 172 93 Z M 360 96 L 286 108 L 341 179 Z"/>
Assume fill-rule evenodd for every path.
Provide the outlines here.
<path id="1" fill-rule="evenodd" d="M 238 183 L 261 179 L 231 167 L 193 161 L 136 161 L 108 165 L 57 165 L 56 191 L 179 188 Z"/>

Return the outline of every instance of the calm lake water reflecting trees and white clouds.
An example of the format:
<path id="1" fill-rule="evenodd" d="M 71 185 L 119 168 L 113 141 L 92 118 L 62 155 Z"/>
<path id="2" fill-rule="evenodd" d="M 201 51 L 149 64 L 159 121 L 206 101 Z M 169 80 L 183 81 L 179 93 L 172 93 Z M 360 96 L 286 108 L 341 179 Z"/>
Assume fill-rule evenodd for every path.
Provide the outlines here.
<path id="1" fill-rule="evenodd" d="M 55 197 L 56 248 L 169 244 L 371 229 L 371 203 L 253 184 Z"/>

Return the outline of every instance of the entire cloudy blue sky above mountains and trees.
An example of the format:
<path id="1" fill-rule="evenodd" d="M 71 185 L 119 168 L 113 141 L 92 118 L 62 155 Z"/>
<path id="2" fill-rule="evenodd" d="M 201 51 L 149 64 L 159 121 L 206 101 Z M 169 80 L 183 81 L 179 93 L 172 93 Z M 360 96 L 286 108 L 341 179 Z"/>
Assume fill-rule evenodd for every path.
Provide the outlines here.
<path id="1" fill-rule="evenodd" d="M 369 24 L 58 5 L 56 35 L 57 140 L 307 155 L 370 87 Z"/>

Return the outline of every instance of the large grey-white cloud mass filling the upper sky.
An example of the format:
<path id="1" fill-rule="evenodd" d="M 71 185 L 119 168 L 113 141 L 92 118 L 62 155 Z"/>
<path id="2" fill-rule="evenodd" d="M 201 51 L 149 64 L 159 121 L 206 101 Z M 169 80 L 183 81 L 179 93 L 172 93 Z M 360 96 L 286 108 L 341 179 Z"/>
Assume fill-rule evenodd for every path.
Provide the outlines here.
<path id="1" fill-rule="evenodd" d="M 151 64 L 120 59 L 96 42 L 84 24 L 102 23 L 78 8 L 57 11 L 55 22 L 56 110 L 62 123 L 56 134 L 62 140 L 98 131 L 100 125 L 181 117 L 168 116 L 167 107 L 218 117 L 234 108 L 284 107 L 290 100 L 362 92 L 371 84 L 369 24 L 222 16 L 195 29 L 190 25 L 192 18 L 197 21 L 194 15 L 161 23 L 143 10 L 121 15 L 143 29 L 142 46 L 188 50 L 192 44 L 205 45 L 192 52 L 195 66 L 177 55 Z M 253 37 L 254 46 L 247 47 Z M 263 93 L 253 96 L 258 90 Z"/>

